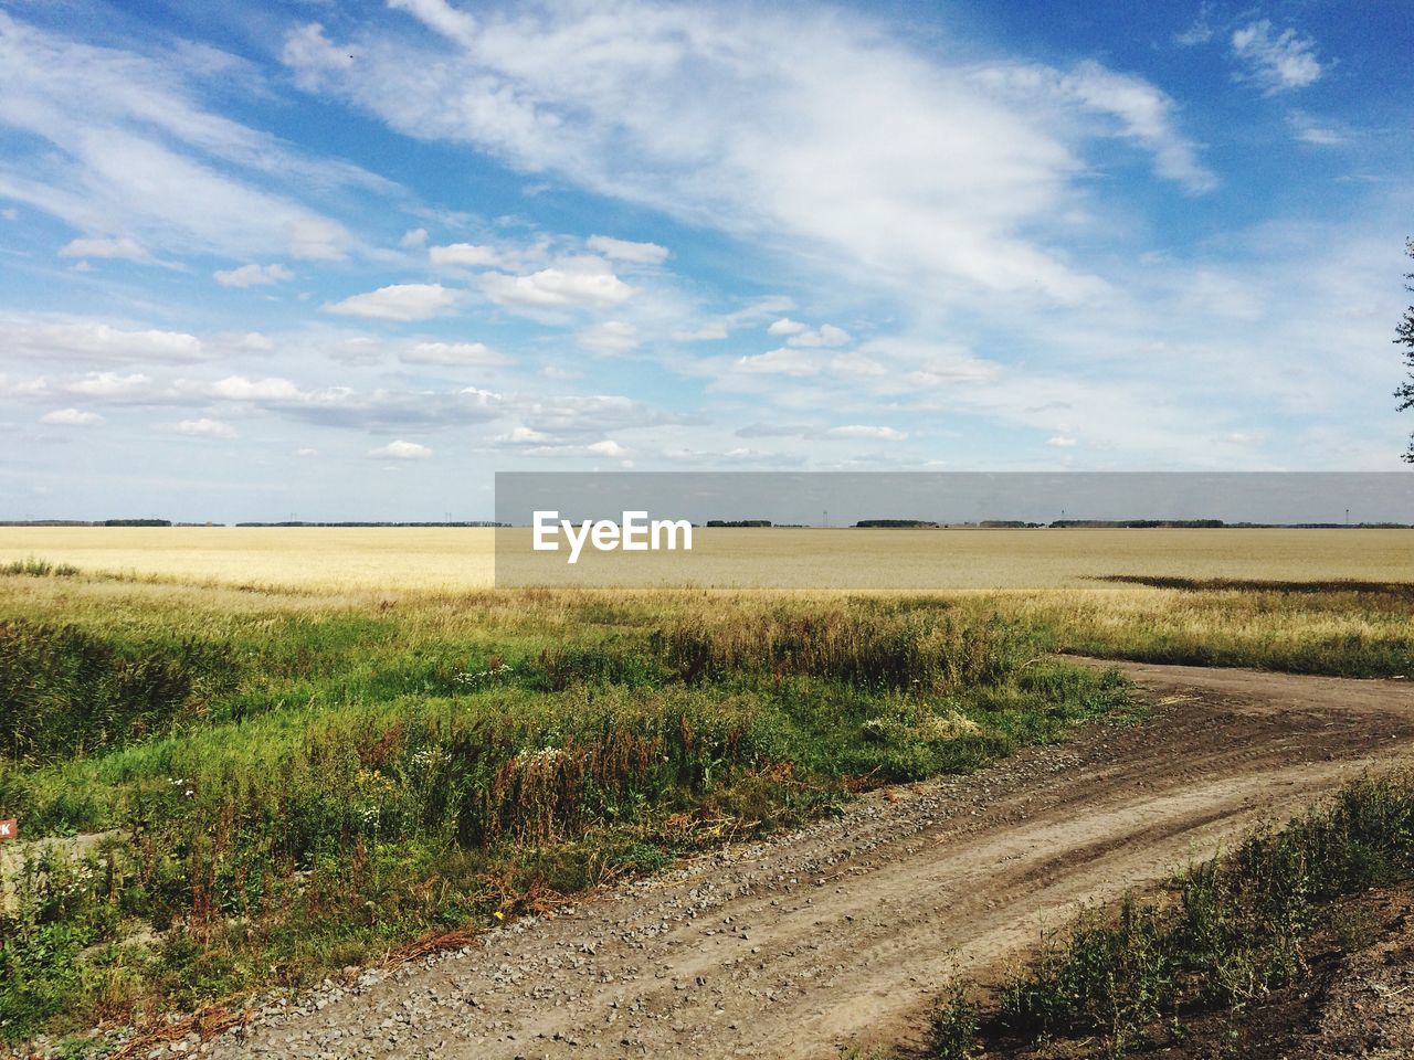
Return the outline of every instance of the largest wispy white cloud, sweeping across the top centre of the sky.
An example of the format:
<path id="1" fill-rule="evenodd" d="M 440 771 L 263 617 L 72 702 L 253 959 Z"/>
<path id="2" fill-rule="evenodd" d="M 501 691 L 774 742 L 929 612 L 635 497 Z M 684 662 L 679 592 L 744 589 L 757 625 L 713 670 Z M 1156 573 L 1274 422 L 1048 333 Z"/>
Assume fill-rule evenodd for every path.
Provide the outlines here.
<path id="1" fill-rule="evenodd" d="M 1096 64 L 939 59 L 946 48 L 836 8 L 626 0 L 506 8 L 447 33 L 451 8 L 428 4 L 406 10 L 441 40 L 359 33 L 358 68 L 328 90 L 404 134 L 792 245 L 911 297 L 1106 294 L 1038 233 L 1083 201 L 1096 157 L 1127 155 L 1116 140 L 1191 191 L 1213 182 L 1171 100 Z M 515 297 L 508 283 L 498 297 Z"/>

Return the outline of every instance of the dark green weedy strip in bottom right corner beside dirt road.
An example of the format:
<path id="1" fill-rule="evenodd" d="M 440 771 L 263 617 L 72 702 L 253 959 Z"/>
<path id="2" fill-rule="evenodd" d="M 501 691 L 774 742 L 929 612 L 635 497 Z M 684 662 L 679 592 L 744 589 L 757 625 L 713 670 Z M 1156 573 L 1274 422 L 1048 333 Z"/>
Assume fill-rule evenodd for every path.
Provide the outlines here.
<path id="1" fill-rule="evenodd" d="M 1340 899 L 1411 878 L 1414 775 L 1355 782 L 1193 866 L 1157 902 L 1083 913 L 988 1006 L 956 984 L 935 1016 L 932 1056 L 984 1044 L 1019 1054 L 1051 1039 L 1099 1040 L 1107 1057 L 1172 1044 L 1185 1020 L 1241 1013 L 1302 977 Z"/>

